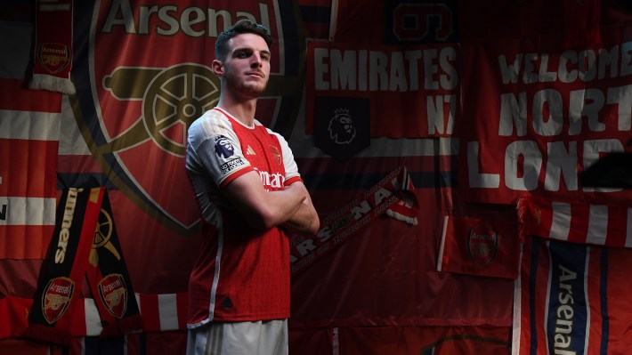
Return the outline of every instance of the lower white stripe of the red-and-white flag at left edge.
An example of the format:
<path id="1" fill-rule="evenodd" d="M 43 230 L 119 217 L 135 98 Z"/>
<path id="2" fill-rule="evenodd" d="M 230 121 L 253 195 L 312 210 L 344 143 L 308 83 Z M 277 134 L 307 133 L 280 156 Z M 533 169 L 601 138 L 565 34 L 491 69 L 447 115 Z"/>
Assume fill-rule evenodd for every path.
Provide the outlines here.
<path id="1" fill-rule="evenodd" d="M 55 198 L 0 197 L 0 206 L 6 206 L 0 225 L 55 225 Z"/>

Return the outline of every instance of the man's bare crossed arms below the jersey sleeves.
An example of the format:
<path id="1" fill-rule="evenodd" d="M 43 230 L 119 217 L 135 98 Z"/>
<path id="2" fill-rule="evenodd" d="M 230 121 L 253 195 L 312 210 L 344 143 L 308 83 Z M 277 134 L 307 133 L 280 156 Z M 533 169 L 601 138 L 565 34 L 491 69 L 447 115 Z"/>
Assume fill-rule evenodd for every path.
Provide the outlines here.
<path id="1" fill-rule="evenodd" d="M 303 182 L 295 182 L 285 190 L 266 191 L 259 174 L 253 171 L 230 182 L 224 194 L 255 228 L 268 230 L 280 226 L 311 234 L 320 228 L 318 214 Z"/>

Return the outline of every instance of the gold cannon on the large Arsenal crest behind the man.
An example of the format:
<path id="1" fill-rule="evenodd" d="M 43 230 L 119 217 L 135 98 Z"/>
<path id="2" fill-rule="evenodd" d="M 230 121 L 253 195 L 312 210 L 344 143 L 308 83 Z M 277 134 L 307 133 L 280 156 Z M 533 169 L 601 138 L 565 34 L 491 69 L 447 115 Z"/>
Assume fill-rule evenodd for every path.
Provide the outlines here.
<path id="1" fill-rule="evenodd" d="M 303 79 L 271 74 L 263 97 L 291 96 L 296 117 Z M 166 69 L 118 67 L 103 77 L 103 86 L 118 100 L 142 100 L 142 117 L 126 133 L 99 147 L 101 153 L 128 149 L 150 138 L 160 149 L 184 157 L 190 124 L 215 107 L 220 96 L 219 78 L 198 63 L 180 63 Z"/>

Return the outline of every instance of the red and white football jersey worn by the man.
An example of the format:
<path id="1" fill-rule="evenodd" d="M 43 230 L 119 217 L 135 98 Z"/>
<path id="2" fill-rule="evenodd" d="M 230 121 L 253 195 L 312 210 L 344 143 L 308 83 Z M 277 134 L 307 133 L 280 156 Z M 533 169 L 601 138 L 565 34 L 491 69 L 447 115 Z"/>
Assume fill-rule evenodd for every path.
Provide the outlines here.
<path id="1" fill-rule="evenodd" d="M 203 246 L 190 276 L 189 327 L 209 321 L 289 317 L 289 241 L 255 230 L 220 190 L 255 170 L 266 190 L 300 181 L 288 142 L 255 120 L 211 109 L 189 129 L 187 172 L 203 216 Z"/>

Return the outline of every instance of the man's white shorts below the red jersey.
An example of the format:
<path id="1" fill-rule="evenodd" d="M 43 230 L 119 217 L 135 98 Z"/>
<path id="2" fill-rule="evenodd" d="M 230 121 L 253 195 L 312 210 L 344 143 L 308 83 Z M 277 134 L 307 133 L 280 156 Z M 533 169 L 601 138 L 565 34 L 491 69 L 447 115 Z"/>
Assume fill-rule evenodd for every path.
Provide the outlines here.
<path id="1" fill-rule="evenodd" d="M 288 355 L 288 319 L 189 329 L 187 355 Z"/>

